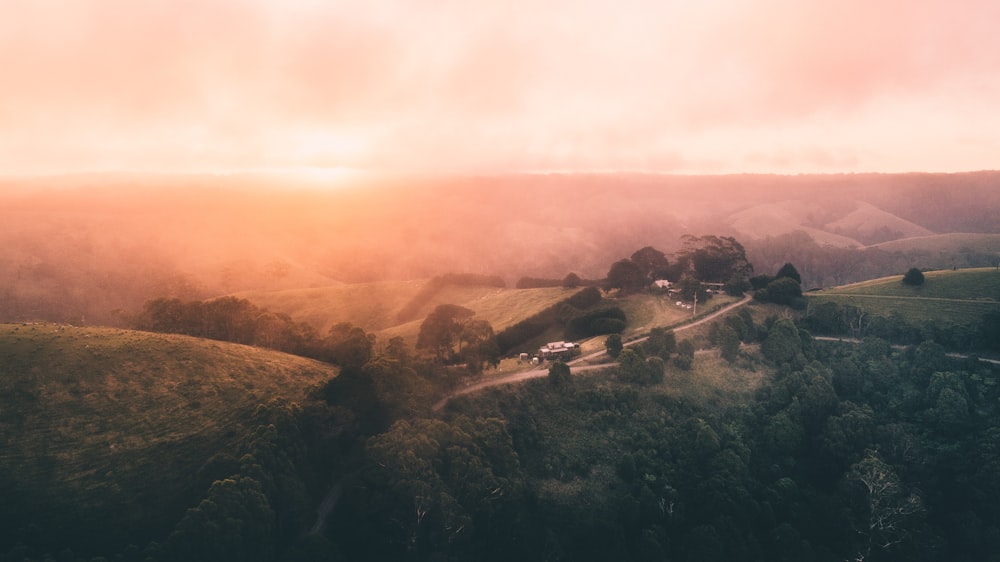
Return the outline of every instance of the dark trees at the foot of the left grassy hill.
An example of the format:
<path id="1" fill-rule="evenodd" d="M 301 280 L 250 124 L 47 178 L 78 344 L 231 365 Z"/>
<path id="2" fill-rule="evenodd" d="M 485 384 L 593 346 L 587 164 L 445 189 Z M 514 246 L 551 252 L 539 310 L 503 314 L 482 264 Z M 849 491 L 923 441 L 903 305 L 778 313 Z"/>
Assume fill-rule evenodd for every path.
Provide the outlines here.
<path id="1" fill-rule="evenodd" d="M 236 444 L 207 459 L 194 474 L 186 475 L 181 506 L 189 507 L 164 527 L 137 528 L 132 543 L 111 546 L 108 537 L 73 540 L 72 526 L 49 529 L 30 527 L 17 532 L 16 543 L 0 560 L 17 562 L 271 562 L 303 542 L 303 530 L 314 518 L 314 498 L 322 491 L 320 475 L 330 465 L 315 453 L 336 444 L 312 431 L 315 416 L 297 404 L 271 400 L 249 414 L 248 429 Z M 110 476 L 110 474 L 109 474 Z M 191 493 L 188 494 L 188 489 Z M 70 508 L 72 509 L 72 508 Z M 119 506 L 109 506 L 119 509 Z M 169 513 L 163 505 L 150 509 Z M 136 514 L 137 519 L 164 524 L 167 513 Z M 81 516 L 84 516 L 81 513 Z M 121 538 L 115 529 L 101 529 L 99 511 L 88 511 L 100 529 Z M 110 516 L 107 516 L 110 518 Z M 141 542 L 142 537 L 152 537 Z M 0 545 L 8 535 L 0 534 Z M 100 546 L 95 546 L 100 545 Z M 103 552 L 101 548 L 106 548 Z M 97 550 L 95 550 L 97 549 Z M 86 554 L 84 554 L 86 553 Z M 329 553 L 329 551 L 328 551 Z M 104 556 L 96 555 L 104 554 Z M 336 554 L 333 551 L 333 554 Z M 315 558 L 329 559 L 329 558 Z"/>

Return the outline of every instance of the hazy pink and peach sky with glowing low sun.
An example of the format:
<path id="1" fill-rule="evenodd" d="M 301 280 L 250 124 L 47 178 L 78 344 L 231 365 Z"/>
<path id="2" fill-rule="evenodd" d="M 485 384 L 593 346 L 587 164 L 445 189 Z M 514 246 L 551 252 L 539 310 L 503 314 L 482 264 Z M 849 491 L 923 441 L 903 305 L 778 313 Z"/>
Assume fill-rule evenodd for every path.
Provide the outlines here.
<path id="1" fill-rule="evenodd" d="M 0 173 L 1000 168 L 997 0 L 0 0 Z"/>

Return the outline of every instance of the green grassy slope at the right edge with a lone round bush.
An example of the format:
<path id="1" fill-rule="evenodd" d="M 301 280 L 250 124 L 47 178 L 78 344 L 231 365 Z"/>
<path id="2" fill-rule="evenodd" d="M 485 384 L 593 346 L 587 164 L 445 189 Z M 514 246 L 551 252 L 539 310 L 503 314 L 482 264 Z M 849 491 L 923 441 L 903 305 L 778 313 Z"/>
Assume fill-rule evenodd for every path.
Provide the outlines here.
<path id="1" fill-rule="evenodd" d="M 928 271 L 924 284 L 903 285 L 883 277 L 807 293 L 811 300 L 859 306 L 877 315 L 898 312 L 916 322 L 970 325 L 984 312 L 1000 310 L 1000 272 L 994 268 Z"/>

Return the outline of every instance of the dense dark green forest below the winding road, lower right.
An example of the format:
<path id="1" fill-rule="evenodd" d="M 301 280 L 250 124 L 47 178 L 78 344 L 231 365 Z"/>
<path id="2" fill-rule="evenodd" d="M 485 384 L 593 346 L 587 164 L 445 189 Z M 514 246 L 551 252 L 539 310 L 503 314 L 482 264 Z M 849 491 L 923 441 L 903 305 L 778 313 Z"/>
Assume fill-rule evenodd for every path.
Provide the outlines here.
<path id="1" fill-rule="evenodd" d="M 992 559 L 1000 390 L 988 365 L 933 343 L 813 342 L 789 319 L 753 332 L 755 368 L 771 374 L 746 401 L 657 392 L 672 377 L 651 380 L 635 346 L 621 382 L 454 402 L 502 416 L 539 483 L 522 515 L 538 528 L 512 541 L 538 560 Z"/>

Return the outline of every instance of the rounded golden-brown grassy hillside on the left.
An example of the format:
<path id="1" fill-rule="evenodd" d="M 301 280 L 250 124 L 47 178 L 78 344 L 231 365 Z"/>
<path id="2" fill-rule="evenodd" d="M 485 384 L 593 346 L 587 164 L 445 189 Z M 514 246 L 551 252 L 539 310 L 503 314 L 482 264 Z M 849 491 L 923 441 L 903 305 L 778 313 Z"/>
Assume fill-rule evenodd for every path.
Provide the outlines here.
<path id="1" fill-rule="evenodd" d="M 0 325 L 0 524 L 94 520 L 130 537 L 170 524 L 204 492 L 189 489 L 198 469 L 232 449 L 257 404 L 302 401 L 335 374 L 185 336 Z"/>

